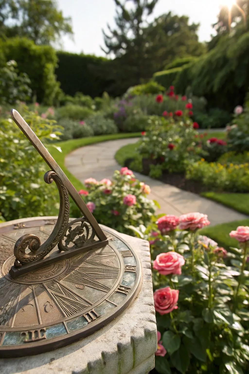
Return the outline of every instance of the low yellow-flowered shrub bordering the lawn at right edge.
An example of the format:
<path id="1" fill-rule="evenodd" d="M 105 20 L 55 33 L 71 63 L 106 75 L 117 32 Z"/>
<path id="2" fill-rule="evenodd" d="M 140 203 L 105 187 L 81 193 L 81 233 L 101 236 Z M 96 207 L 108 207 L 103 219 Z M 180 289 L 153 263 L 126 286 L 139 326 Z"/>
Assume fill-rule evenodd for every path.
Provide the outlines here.
<path id="1" fill-rule="evenodd" d="M 248 192 L 249 164 L 222 165 L 201 159 L 187 165 L 186 178 L 199 181 L 212 191 Z"/>

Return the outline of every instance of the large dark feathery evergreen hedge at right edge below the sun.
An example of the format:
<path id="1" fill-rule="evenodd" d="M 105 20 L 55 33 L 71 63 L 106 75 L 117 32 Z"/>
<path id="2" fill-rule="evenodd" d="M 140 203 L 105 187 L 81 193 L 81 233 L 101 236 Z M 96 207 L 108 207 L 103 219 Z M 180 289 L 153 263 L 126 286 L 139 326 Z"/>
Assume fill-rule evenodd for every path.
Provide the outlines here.
<path id="1" fill-rule="evenodd" d="M 156 82 L 173 84 L 179 94 L 191 87 L 195 96 L 204 96 L 208 107 L 232 112 L 242 105 L 249 88 L 249 31 L 224 36 L 217 46 L 183 67 L 159 71 Z"/>

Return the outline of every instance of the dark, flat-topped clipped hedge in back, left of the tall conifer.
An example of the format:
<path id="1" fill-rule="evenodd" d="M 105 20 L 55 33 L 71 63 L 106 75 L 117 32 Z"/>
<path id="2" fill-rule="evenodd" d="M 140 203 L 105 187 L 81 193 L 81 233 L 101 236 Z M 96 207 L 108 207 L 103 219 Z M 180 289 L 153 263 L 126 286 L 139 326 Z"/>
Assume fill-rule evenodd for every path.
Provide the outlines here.
<path id="1" fill-rule="evenodd" d="M 91 97 L 101 96 L 107 91 L 106 68 L 109 60 L 104 57 L 57 52 L 57 79 L 67 95 L 83 92 Z"/>

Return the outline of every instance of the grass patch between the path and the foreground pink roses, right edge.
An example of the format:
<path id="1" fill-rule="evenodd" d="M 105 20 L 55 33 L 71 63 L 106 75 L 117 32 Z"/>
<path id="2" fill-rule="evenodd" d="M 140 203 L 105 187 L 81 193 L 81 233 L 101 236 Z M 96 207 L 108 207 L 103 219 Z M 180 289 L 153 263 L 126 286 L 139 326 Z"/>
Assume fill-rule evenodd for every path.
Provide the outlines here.
<path id="1" fill-rule="evenodd" d="M 235 239 L 231 239 L 229 233 L 236 230 L 238 226 L 249 226 L 249 219 L 242 221 L 234 221 L 222 223 L 220 225 L 205 227 L 199 231 L 199 234 L 206 235 L 215 240 L 221 247 L 229 249 L 229 247 L 238 247 L 239 243 Z"/>

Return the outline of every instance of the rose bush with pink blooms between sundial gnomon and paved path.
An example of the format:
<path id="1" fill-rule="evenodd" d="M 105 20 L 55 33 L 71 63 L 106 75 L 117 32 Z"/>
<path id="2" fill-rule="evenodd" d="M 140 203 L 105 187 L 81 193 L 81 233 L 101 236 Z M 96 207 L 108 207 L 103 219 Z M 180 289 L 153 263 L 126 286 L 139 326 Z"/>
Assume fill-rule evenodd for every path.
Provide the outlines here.
<path id="1" fill-rule="evenodd" d="M 118 232 L 131 233 L 129 225 L 149 224 L 155 203 L 148 199 L 149 186 L 140 183 L 127 168 L 115 171 L 112 181 L 85 180 L 88 194 L 81 194 L 99 223 Z M 80 191 L 82 193 L 82 191 Z M 90 205 L 90 202 L 94 204 Z"/>

